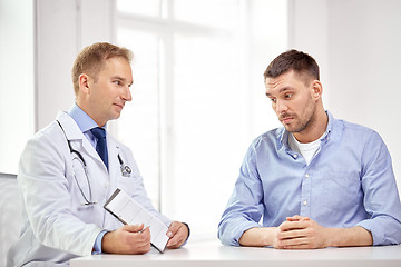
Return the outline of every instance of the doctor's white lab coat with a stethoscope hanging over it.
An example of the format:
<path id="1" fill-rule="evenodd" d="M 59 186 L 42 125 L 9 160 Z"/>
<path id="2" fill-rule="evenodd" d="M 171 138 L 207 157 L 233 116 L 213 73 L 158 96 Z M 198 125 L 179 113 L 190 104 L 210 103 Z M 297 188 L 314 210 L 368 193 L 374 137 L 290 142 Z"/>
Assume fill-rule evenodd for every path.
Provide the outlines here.
<path id="1" fill-rule="evenodd" d="M 58 115 L 67 138 L 78 150 L 86 164 L 92 191 L 98 204 L 84 206 L 74 177 L 79 181 L 86 197 L 89 186 L 84 169 L 67 144 L 57 121 L 35 135 L 28 141 L 20 160 L 18 185 L 22 195 L 21 236 L 8 255 L 8 266 L 52 266 L 67 264 L 77 256 L 90 255 L 96 237 L 102 229 L 121 227 L 114 216 L 104 209 L 104 204 L 116 188 L 128 192 L 153 215 L 166 225 L 170 220 L 151 206 L 146 196 L 143 179 L 130 150 L 107 135 L 109 172 L 95 148 L 82 135 L 78 125 L 66 112 Z M 117 155 L 133 170 L 130 177 L 123 177 Z M 45 264 L 48 261 L 47 264 Z"/>

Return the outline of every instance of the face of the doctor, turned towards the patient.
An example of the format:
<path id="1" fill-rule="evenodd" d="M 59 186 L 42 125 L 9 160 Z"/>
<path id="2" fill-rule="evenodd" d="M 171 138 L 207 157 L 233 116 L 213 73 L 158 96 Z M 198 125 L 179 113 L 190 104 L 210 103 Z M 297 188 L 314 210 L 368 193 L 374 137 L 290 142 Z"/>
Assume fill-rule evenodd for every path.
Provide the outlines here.
<path id="1" fill-rule="evenodd" d="M 86 106 L 81 107 L 98 126 L 120 117 L 126 101 L 131 100 L 129 87 L 133 72 L 129 62 L 120 57 L 104 61 L 97 77 L 88 76 Z"/>

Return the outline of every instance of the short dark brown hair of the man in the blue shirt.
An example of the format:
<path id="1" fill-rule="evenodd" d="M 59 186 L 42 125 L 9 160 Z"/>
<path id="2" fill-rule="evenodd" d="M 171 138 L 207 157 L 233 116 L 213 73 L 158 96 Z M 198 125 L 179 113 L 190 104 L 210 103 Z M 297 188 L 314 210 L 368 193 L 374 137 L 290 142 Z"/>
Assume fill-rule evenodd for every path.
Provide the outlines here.
<path id="1" fill-rule="evenodd" d="M 266 68 L 263 73 L 266 78 L 277 78 L 285 72 L 294 70 L 295 72 L 307 75 L 314 80 L 319 80 L 319 65 L 310 55 L 295 49 L 278 55 Z"/>

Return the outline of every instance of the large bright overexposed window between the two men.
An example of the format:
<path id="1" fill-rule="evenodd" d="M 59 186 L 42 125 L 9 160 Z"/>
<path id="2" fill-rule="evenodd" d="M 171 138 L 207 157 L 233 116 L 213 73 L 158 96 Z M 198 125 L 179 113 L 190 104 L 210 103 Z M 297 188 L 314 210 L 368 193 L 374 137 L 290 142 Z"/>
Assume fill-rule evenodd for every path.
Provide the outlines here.
<path id="1" fill-rule="evenodd" d="M 188 222 L 195 239 L 216 237 L 246 148 L 262 134 L 252 123 L 272 128 L 253 100 L 257 91 L 268 106 L 265 66 L 257 67 L 258 87 L 250 82 L 251 12 L 258 4 L 265 3 L 116 1 L 116 42 L 134 52 L 134 86 L 115 135 L 133 149 L 155 207 Z M 277 41 L 280 52 L 285 41 Z"/>

